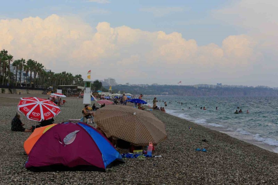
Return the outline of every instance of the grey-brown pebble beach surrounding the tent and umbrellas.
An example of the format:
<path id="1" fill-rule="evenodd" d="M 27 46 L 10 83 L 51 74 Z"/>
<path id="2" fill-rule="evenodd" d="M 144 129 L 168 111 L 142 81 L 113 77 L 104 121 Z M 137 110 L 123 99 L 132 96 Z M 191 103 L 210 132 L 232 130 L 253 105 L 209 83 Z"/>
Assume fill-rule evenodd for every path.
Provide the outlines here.
<path id="1" fill-rule="evenodd" d="M 125 163 L 106 172 L 31 172 L 24 168 L 27 158 L 23 143 L 31 133 L 11 131 L 11 120 L 20 97 L 47 95 L 0 94 L 0 184 L 277 184 L 278 154 L 210 130 L 159 110 L 151 111 L 165 123 L 167 139 L 155 147 L 145 161 L 124 159 Z M 80 119 L 83 100 L 67 102 L 55 123 Z M 36 125 L 21 114 L 25 128 Z M 191 129 L 189 129 L 189 127 Z M 202 140 L 206 140 L 206 142 Z M 205 148 L 207 152 L 195 149 Z M 119 149 L 120 153 L 127 152 Z"/>

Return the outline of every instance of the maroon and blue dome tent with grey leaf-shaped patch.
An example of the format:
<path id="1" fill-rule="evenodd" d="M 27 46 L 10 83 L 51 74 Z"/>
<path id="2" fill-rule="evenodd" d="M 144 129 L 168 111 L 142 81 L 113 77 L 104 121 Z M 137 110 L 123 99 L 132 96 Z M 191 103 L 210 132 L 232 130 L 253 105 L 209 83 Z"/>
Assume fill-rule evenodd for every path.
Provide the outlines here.
<path id="1" fill-rule="evenodd" d="M 123 162 L 105 136 L 81 122 L 67 121 L 48 128 L 31 148 L 25 163 L 31 171 L 105 171 Z"/>

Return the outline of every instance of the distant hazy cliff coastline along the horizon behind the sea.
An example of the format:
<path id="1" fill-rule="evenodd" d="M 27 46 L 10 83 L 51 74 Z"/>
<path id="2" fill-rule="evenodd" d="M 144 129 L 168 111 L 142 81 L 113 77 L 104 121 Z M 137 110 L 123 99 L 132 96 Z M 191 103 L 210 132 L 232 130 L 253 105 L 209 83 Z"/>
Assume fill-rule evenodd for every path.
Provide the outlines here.
<path id="1" fill-rule="evenodd" d="M 117 85 L 114 92 L 126 92 L 145 95 L 178 95 L 178 96 L 278 96 L 278 90 L 272 88 L 195 88 L 186 85 L 150 85 L 148 87 Z"/>

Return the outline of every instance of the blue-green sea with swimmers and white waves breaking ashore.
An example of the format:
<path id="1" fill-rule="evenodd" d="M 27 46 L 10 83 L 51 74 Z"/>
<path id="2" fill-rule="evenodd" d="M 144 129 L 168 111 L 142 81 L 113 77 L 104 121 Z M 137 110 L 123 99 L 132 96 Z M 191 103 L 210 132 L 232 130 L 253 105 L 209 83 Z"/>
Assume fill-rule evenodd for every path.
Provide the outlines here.
<path id="1" fill-rule="evenodd" d="M 154 96 L 143 99 L 151 108 Z M 164 107 L 168 114 L 278 153 L 278 97 L 157 96 L 157 100 L 157 105 Z M 166 107 L 162 101 L 167 102 Z M 207 110 L 200 109 L 204 106 Z M 238 107 L 243 113 L 234 114 L 236 110 L 239 111 Z"/>

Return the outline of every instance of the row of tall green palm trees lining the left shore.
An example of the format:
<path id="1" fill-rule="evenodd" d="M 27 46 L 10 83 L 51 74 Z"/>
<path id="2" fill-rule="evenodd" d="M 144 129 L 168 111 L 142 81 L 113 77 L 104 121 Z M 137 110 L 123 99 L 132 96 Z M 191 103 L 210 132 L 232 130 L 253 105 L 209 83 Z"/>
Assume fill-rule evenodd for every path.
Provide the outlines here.
<path id="1" fill-rule="evenodd" d="M 82 86 L 83 79 L 81 75 L 75 75 L 68 72 L 54 73 L 46 72 L 43 64 L 23 58 L 13 60 L 13 56 L 3 49 L 0 51 L 0 83 L 2 85 L 29 86 L 29 87 L 49 87 L 57 85 L 79 85 Z M 11 72 L 10 64 L 15 67 L 15 74 Z M 30 74 L 30 78 L 22 79 L 22 73 Z M 18 79 L 19 73 L 19 80 Z M 15 80 L 12 80 L 15 79 Z M 32 85 L 33 84 L 33 85 Z"/>

